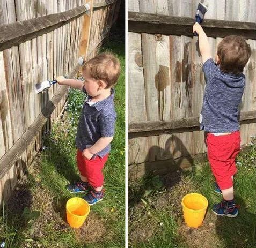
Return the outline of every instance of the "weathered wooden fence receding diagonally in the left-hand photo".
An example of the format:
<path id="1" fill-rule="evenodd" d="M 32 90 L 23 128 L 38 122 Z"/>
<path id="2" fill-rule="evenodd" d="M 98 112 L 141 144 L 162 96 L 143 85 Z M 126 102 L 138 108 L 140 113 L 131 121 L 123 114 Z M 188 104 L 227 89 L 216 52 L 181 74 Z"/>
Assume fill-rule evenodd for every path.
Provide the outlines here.
<path id="1" fill-rule="evenodd" d="M 67 100 L 67 86 L 56 84 L 35 94 L 36 82 L 53 80 L 57 75 L 74 78 L 80 67 L 78 57 L 92 56 L 87 50 L 91 43 L 94 44 L 95 30 L 105 28 L 105 19 L 110 26 L 112 24 L 113 18 L 101 14 L 112 13 L 113 9 L 118 11 L 113 1 L 107 4 L 107 13 L 96 14 L 100 7 L 97 4 L 104 5 L 107 0 L 94 2 L 96 6 L 93 0 L 1 2 L 1 202 L 9 198 L 17 179 L 39 151 L 42 137 L 50 130 Z M 94 15 L 104 23 L 97 22 Z"/>

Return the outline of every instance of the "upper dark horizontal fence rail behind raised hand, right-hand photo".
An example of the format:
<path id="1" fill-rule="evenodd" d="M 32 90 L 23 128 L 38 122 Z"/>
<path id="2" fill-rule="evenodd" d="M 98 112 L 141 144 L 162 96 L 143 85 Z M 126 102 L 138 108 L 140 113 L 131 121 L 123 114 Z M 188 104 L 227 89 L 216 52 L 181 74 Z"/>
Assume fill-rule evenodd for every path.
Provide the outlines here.
<path id="1" fill-rule="evenodd" d="M 193 36 L 194 23 L 194 18 L 190 17 L 128 12 L 129 32 Z M 253 22 L 204 19 L 202 27 L 209 37 L 223 38 L 234 34 L 256 39 L 256 24 Z"/>

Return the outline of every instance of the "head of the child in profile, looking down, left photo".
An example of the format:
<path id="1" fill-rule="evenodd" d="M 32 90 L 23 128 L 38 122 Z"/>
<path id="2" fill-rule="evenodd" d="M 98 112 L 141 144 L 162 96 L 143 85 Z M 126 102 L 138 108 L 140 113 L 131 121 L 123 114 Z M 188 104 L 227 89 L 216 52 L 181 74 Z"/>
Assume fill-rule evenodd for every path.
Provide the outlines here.
<path id="1" fill-rule="evenodd" d="M 91 96 L 112 88 L 120 76 L 120 62 L 110 52 L 103 52 L 87 61 L 83 66 L 84 85 Z"/>

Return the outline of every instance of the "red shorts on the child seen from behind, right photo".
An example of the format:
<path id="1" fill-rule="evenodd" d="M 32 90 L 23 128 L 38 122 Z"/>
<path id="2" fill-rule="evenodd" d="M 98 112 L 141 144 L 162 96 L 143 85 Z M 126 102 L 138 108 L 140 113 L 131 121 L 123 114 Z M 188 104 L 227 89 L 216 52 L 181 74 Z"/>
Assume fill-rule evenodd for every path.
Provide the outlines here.
<path id="1" fill-rule="evenodd" d="M 233 186 L 232 176 L 237 172 L 235 159 L 240 151 L 240 142 L 240 131 L 222 136 L 207 134 L 208 160 L 221 190 Z"/>

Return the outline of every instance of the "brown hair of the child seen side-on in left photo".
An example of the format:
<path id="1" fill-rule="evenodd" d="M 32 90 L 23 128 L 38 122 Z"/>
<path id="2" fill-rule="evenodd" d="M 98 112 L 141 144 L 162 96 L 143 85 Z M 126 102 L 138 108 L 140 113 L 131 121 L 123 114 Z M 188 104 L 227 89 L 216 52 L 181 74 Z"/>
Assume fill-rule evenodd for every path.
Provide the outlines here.
<path id="1" fill-rule="evenodd" d="M 105 81 L 106 88 L 112 88 L 120 76 L 120 62 L 111 52 L 103 52 L 85 62 L 84 70 L 88 70 L 93 79 Z"/>

